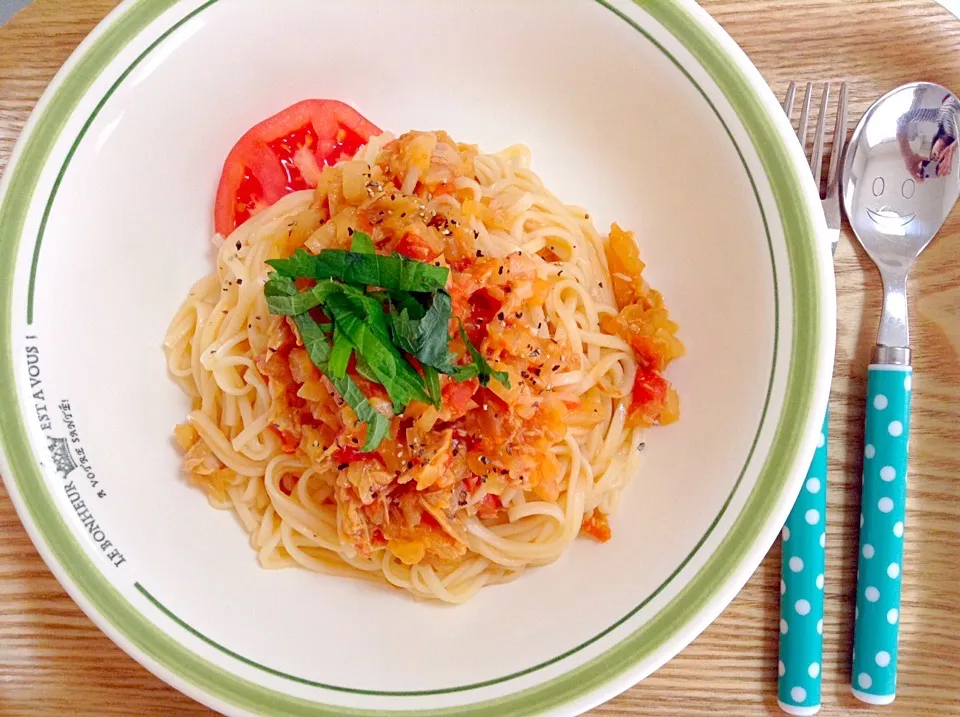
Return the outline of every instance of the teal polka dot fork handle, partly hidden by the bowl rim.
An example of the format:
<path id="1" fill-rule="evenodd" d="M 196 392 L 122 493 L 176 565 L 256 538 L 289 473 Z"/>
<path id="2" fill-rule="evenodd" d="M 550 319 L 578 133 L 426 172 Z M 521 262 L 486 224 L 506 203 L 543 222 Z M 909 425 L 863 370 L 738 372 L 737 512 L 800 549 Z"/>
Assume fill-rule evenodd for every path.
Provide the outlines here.
<path id="1" fill-rule="evenodd" d="M 828 426 L 829 414 L 823 419 L 800 495 L 783 526 L 777 700 L 792 715 L 812 715 L 820 709 Z"/>

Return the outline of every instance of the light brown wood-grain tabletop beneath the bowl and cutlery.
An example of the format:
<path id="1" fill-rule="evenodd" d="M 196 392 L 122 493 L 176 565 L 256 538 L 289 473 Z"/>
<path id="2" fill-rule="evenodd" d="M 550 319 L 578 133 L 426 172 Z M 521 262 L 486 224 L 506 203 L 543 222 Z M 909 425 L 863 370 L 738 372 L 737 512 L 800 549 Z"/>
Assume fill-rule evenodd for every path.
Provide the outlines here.
<path id="1" fill-rule="evenodd" d="M 108 0 L 38 0 L 0 29 L 0 171 L 40 93 Z M 849 80 L 852 118 L 898 84 L 960 91 L 960 20 L 932 0 L 702 0 L 778 95 L 790 79 Z M 852 129 L 852 122 L 851 122 Z M 839 345 L 832 400 L 824 709 L 849 694 L 864 376 L 880 285 L 845 230 L 836 256 Z M 880 714 L 960 715 L 960 210 L 911 286 L 915 347 L 900 684 Z M 723 615 L 655 675 L 596 715 L 777 714 L 780 548 Z M 0 486 L 0 715 L 206 715 L 149 674 L 53 578 Z"/>

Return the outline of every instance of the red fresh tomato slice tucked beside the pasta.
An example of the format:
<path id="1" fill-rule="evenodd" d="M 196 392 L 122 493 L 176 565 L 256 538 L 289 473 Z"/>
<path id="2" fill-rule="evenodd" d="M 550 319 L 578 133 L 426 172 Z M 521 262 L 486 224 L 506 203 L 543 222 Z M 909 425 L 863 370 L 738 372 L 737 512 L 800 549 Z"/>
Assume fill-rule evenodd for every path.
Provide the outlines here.
<path id="1" fill-rule="evenodd" d="M 278 199 L 317 186 L 323 167 L 352 157 L 381 130 L 336 100 L 303 100 L 244 134 L 223 163 L 214 226 L 226 236 Z"/>

